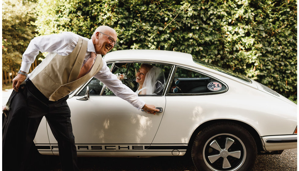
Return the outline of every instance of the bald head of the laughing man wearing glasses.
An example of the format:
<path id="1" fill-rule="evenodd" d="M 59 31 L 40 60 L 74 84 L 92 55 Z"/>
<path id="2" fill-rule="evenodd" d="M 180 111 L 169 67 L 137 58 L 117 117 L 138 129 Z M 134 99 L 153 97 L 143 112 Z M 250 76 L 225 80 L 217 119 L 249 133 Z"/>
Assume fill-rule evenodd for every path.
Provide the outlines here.
<path id="1" fill-rule="evenodd" d="M 100 33 L 102 32 L 102 33 Z M 98 27 L 92 35 L 92 42 L 95 47 L 95 53 L 106 55 L 113 47 L 114 41 L 117 40 L 117 34 L 111 27 Z"/>

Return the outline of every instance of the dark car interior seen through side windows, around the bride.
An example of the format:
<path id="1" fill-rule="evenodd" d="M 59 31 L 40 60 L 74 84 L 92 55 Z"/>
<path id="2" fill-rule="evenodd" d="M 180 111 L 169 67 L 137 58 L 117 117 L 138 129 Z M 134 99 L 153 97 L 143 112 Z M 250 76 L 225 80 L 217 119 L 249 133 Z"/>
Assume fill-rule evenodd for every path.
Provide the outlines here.
<path id="1" fill-rule="evenodd" d="M 124 75 L 124 79 L 121 79 L 121 81 L 130 89 L 132 89 L 132 91 L 135 92 L 138 86 L 137 82 L 135 81 L 136 73 L 141 64 L 144 63 L 115 63 L 112 68 L 112 73 L 116 75 Z M 171 66 L 161 64 L 151 65 L 161 68 L 161 74 L 155 82 L 156 90 L 151 95 L 162 95 L 165 89 L 166 81 L 170 75 Z M 111 64 L 108 65 L 108 67 L 111 66 Z M 185 68 L 177 67 L 174 79 L 171 82 L 171 87 L 168 90 L 168 94 L 202 94 L 226 90 L 226 86 L 221 84 L 221 89 L 218 89 L 217 91 L 212 91 L 208 88 L 208 84 L 212 82 L 217 82 L 218 84 L 221 84 L 217 80 L 210 78 L 206 75 L 190 71 Z M 98 79 L 93 78 L 86 86 L 89 87 L 90 96 L 99 96 L 104 85 Z M 81 92 L 77 96 L 85 95 L 86 86 L 84 89 L 81 90 Z M 113 95 L 113 92 L 106 87 L 102 95 Z"/>

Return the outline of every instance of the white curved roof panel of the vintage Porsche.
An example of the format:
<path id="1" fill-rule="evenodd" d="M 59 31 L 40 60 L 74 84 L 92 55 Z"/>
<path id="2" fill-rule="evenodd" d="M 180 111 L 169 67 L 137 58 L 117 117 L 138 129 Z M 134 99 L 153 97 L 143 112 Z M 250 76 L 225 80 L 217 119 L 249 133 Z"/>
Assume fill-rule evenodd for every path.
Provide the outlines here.
<path id="1" fill-rule="evenodd" d="M 167 50 L 146 50 L 146 49 L 131 49 L 117 50 L 107 53 L 104 56 L 106 62 L 109 61 L 153 61 L 170 64 L 185 64 L 193 65 L 192 55 L 182 52 L 174 52 Z"/>

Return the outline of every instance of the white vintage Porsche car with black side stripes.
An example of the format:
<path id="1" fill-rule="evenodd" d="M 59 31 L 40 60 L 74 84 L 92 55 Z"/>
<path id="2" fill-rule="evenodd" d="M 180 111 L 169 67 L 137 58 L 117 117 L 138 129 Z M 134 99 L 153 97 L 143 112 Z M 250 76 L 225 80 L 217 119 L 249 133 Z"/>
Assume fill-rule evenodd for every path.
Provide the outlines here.
<path id="1" fill-rule="evenodd" d="M 297 148 L 297 105 L 267 86 L 192 55 L 162 50 L 118 50 L 104 56 L 133 91 L 140 64 L 161 68 L 153 95 L 156 115 L 136 110 L 92 78 L 67 103 L 78 156 L 191 155 L 198 170 L 250 170 L 257 154 Z M 58 155 L 45 118 L 34 139 L 44 155 Z"/>

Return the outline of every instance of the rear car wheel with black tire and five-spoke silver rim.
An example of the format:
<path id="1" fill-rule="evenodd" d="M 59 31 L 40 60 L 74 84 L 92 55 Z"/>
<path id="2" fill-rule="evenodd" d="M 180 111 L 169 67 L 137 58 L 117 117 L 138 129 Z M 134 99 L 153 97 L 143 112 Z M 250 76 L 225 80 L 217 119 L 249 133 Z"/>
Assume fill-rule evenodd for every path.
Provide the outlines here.
<path id="1" fill-rule="evenodd" d="M 242 126 L 219 122 L 196 135 L 191 157 L 200 171 L 249 171 L 254 166 L 257 147 Z"/>

